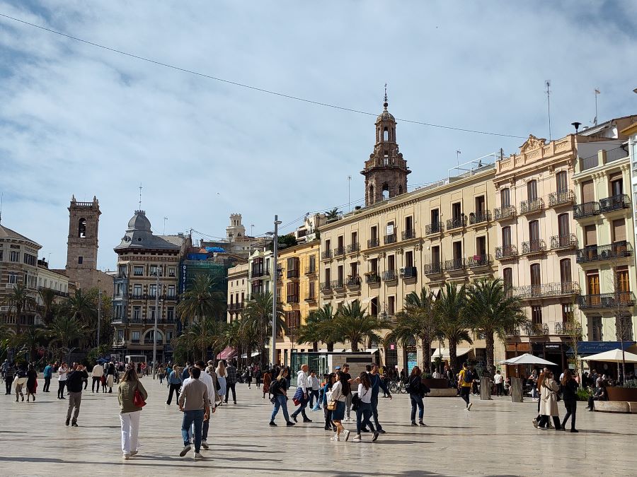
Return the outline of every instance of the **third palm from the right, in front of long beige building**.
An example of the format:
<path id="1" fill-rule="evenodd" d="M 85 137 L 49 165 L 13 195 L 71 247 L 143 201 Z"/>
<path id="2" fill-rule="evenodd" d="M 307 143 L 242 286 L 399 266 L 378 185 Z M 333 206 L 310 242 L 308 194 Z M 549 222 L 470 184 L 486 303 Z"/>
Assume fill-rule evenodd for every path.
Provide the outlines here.
<path id="1" fill-rule="evenodd" d="M 386 336 L 386 343 L 408 346 L 415 336 L 423 346 L 423 369 L 431 366 L 430 345 L 437 334 L 437 319 L 433 312 L 432 295 L 423 287 L 420 293 L 411 292 L 405 297 L 403 311 L 396 314 L 396 322 Z"/>

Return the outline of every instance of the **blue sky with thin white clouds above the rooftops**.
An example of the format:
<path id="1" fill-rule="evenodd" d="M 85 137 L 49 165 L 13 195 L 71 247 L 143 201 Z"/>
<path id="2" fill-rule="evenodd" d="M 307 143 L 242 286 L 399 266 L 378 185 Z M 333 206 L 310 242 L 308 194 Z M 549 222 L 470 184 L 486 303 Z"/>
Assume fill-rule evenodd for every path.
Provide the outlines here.
<path id="1" fill-rule="evenodd" d="M 156 233 L 291 232 L 362 203 L 387 83 L 409 184 L 637 114 L 637 2 L 23 1 L 0 14 L 1 224 L 64 268 L 71 194 L 100 202 L 100 269 L 142 208 Z M 473 134 L 401 121 L 406 119 Z M 515 136 L 515 137 L 508 137 Z M 351 181 L 348 181 L 351 176 Z M 350 206 L 348 206 L 350 204 Z M 253 228 L 251 227 L 253 225 Z M 202 235 L 205 234 L 205 235 Z"/>

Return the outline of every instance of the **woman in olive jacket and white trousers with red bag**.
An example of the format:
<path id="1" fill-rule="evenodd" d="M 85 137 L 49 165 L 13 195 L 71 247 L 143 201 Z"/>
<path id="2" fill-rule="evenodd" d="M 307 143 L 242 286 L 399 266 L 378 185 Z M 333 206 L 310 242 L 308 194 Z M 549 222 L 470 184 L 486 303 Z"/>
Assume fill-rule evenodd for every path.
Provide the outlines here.
<path id="1" fill-rule="evenodd" d="M 120 401 L 120 425 L 122 426 L 122 454 L 128 460 L 139 452 L 137 436 L 139 435 L 139 418 L 142 416 L 142 406 L 136 401 L 135 394 L 142 399 L 148 399 L 148 393 L 139 382 L 137 372 L 132 364 L 127 365 L 122 382 L 117 387 L 117 400 Z"/>

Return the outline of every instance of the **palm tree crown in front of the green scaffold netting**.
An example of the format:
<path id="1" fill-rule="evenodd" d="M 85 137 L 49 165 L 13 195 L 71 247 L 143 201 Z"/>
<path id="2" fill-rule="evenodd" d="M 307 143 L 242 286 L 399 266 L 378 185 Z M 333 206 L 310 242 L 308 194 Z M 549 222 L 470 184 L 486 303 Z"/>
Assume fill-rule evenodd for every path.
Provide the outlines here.
<path id="1" fill-rule="evenodd" d="M 177 315 L 184 324 L 204 318 L 219 318 L 225 310 L 224 293 L 215 290 L 216 283 L 210 276 L 197 274 L 188 290 L 183 293 Z"/>

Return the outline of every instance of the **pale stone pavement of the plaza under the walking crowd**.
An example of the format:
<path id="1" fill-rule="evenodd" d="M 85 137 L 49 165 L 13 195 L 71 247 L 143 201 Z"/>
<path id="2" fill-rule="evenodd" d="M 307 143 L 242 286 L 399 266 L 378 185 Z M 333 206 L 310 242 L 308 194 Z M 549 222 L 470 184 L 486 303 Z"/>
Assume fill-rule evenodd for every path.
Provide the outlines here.
<path id="1" fill-rule="evenodd" d="M 505 398 L 425 399 L 426 428 L 412 428 L 408 396 L 380 399 L 386 434 L 377 442 L 331 442 L 323 413 L 314 423 L 270 428 L 272 406 L 255 386 L 238 384 L 238 404 L 212 416 L 207 459 L 180 458 L 181 413 L 164 404 L 165 386 L 144 377 L 149 404 L 142 411 L 139 455 L 122 460 L 117 394 L 84 391 L 79 428 L 66 427 L 67 401 L 38 393 L 35 403 L 0 396 L 1 476 L 464 476 L 637 475 L 636 415 L 590 413 L 578 403 L 579 434 L 536 430 L 536 404 Z M 39 389 L 41 389 L 40 383 Z M 291 394 L 291 393 L 290 393 Z M 292 404 L 292 400 L 289 401 Z M 563 415 L 563 404 L 560 403 Z M 353 414 L 353 413 L 352 413 Z M 347 427 L 354 435 L 355 423 Z"/>

